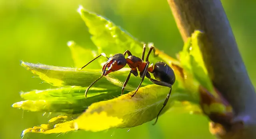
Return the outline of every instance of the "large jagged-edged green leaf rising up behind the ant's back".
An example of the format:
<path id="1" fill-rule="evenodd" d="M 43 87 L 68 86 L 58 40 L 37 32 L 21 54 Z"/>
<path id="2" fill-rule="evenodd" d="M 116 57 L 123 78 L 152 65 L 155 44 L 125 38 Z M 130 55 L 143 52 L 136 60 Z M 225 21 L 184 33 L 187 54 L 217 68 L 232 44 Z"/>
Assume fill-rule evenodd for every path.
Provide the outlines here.
<path id="1" fill-rule="evenodd" d="M 110 57 L 130 50 L 134 56 L 141 56 L 143 43 L 136 40 L 128 32 L 105 17 L 85 10 L 82 6 L 78 8 L 78 12 L 92 34 L 91 39 L 98 48 L 98 54 L 106 53 Z M 154 58 L 150 55 L 149 60 L 150 62 L 157 62 L 160 58 Z M 104 60 L 100 60 L 100 63 L 103 62 Z"/>

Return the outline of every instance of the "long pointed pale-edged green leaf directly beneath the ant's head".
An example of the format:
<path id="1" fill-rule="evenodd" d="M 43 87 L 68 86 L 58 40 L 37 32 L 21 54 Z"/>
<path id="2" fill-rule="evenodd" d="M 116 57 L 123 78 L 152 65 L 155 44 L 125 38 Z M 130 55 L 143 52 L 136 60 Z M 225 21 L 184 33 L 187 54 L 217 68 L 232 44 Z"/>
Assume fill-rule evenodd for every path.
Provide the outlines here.
<path id="1" fill-rule="evenodd" d="M 98 79 L 102 74 L 101 70 L 79 70 L 76 68 L 48 66 L 44 64 L 32 64 L 28 62 L 21 62 L 21 65 L 27 70 L 30 70 L 32 73 L 38 75 L 42 80 L 46 81 L 47 83 L 50 83 L 53 86 L 76 85 L 88 87 L 94 80 Z M 120 88 L 122 87 L 122 82 L 119 82 L 118 80 L 124 81 L 129 71 L 130 69 L 126 68 L 120 71 L 110 73 L 109 76 L 106 76 L 100 79 L 98 82 L 96 82 L 93 87 L 112 87 L 112 89 Z M 116 80 L 116 78 L 118 80 Z M 137 87 L 140 81 L 140 78 L 131 77 L 128 86 Z M 147 84 L 152 83 L 149 80 L 145 80 L 143 86 Z M 127 87 L 126 89 L 128 88 L 129 87 Z"/>

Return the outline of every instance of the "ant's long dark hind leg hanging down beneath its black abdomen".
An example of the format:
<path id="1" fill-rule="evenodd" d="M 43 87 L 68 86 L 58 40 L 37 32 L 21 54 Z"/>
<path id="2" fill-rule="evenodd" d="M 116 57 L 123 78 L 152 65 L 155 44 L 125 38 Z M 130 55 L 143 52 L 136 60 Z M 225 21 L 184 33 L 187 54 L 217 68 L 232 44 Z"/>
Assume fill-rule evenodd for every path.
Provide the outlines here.
<path id="1" fill-rule="evenodd" d="M 170 91 L 169 91 L 169 93 L 168 93 L 167 96 L 166 96 L 166 99 L 164 100 L 163 107 L 160 109 L 159 113 L 158 113 L 157 116 L 156 116 L 156 121 L 155 121 L 155 123 L 153 123 L 153 125 L 155 125 L 156 122 L 157 122 L 157 120 L 158 120 L 158 117 L 159 117 L 161 111 L 164 109 L 164 107 L 166 106 L 166 104 L 167 104 L 167 102 L 168 102 L 168 100 L 169 100 L 169 98 L 170 98 L 170 95 L 171 95 L 171 93 L 172 93 L 172 85 L 169 84 L 169 83 L 163 82 L 163 81 L 158 81 L 158 80 L 156 80 L 156 79 L 152 79 L 152 78 L 150 78 L 150 81 L 152 81 L 152 82 L 155 83 L 156 85 L 161 85 L 161 86 L 166 86 L 166 87 L 170 87 L 170 88 L 171 88 Z"/>

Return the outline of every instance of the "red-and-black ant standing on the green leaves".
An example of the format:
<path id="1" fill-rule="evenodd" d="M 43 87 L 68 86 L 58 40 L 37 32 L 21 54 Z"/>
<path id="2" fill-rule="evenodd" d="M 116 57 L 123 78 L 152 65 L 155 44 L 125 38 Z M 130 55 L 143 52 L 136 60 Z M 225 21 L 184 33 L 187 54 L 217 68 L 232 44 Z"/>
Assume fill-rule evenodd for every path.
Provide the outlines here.
<path id="1" fill-rule="evenodd" d="M 106 62 L 106 64 L 102 67 L 102 75 L 96 79 L 85 91 L 85 97 L 87 95 L 88 90 L 90 89 L 90 87 L 96 83 L 96 81 L 98 81 L 100 78 L 102 78 L 103 76 L 108 75 L 111 72 L 114 71 L 118 71 L 122 68 L 124 68 L 124 66 L 126 66 L 126 64 L 131 68 L 130 73 L 128 74 L 126 80 L 124 81 L 123 87 L 122 87 L 122 93 L 121 95 L 124 93 L 124 87 L 126 86 L 126 84 L 128 83 L 131 74 L 133 74 L 135 77 L 138 76 L 138 71 L 140 72 L 140 77 L 142 78 L 140 81 L 140 84 L 138 85 L 136 91 L 132 94 L 132 97 L 136 94 L 136 92 L 138 91 L 138 89 L 140 88 L 140 85 L 142 84 L 145 76 L 150 79 L 150 81 L 152 81 L 154 84 L 156 85 L 161 85 L 161 86 L 166 86 L 166 87 L 170 87 L 170 91 L 168 93 L 168 95 L 166 96 L 166 99 L 163 103 L 163 107 L 160 109 L 157 117 L 156 117 L 156 121 L 155 123 L 153 123 L 153 125 L 156 124 L 157 120 L 158 120 L 158 116 L 160 115 L 161 111 L 164 109 L 164 107 L 166 106 L 170 94 L 172 92 L 172 85 L 175 82 L 175 74 L 174 71 L 172 70 L 172 68 L 170 68 L 170 66 L 168 66 L 166 63 L 164 62 L 156 62 L 155 64 L 150 64 L 150 62 L 148 61 L 148 58 L 151 54 L 151 52 L 153 51 L 154 56 L 156 57 L 157 55 L 155 54 L 155 48 L 154 46 L 150 47 L 150 50 L 148 51 L 148 55 L 146 57 L 146 60 L 144 61 L 144 56 L 145 56 L 145 52 L 146 52 L 146 44 L 143 45 L 143 51 L 142 51 L 142 56 L 141 58 L 138 58 L 136 56 L 133 56 L 132 53 L 129 50 L 126 50 L 124 52 L 124 54 L 115 54 L 114 56 L 108 58 L 106 57 L 106 54 L 102 53 L 99 56 L 97 56 L 96 58 L 94 58 L 93 60 L 91 60 L 90 62 L 88 62 L 85 66 L 83 66 L 81 68 L 81 70 L 86 67 L 88 64 L 90 64 L 91 62 L 93 62 L 94 60 L 96 60 L 97 58 L 99 58 L 100 56 L 104 56 L 105 58 L 108 58 L 108 61 Z M 125 58 L 126 54 L 128 54 L 128 57 Z M 149 65 L 150 64 L 150 65 Z M 152 79 L 150 73 L 152 73 L 154 75 L 154 77 L 156 79 Z"/>

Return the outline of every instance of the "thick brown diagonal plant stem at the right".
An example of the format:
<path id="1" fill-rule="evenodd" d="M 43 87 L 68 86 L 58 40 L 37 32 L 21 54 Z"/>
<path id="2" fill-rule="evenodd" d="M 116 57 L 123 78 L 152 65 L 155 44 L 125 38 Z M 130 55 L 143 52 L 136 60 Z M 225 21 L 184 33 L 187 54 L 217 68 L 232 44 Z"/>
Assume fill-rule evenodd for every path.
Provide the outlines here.
<path id="1" fill-rule="evenodd" d="M 194 30 L 204 32 L 200 39 L 204 63 L 212 83 L 233 107 L 233 123 L 241 121 L 244 129 L 256 125 L 255 89 L 220 0 L 168 0 L 168 3 L 184 42 Z M 255 132 L 249 134 L 256 136 Z"/>

